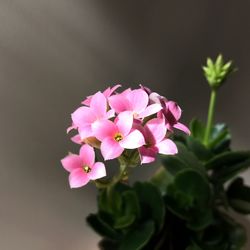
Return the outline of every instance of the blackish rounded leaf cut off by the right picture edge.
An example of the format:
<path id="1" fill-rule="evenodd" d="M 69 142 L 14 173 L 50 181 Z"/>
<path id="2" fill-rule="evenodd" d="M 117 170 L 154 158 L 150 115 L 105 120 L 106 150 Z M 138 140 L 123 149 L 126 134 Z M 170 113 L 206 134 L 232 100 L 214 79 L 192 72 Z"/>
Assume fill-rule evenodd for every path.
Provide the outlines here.
<path id="1" fill-rule="evenodd" d="M 241 177 L 235 179 L 227 190 L 229 205 L 237 212 L 250 214 L 250 187 Z"/>

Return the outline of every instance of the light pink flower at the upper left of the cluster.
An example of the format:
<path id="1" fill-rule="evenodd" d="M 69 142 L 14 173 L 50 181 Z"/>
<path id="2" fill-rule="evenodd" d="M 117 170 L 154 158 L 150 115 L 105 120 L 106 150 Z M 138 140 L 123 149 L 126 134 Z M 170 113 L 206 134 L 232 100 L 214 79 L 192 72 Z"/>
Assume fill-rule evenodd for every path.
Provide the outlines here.
<path id="1" fill-rule="evenodd" d="M 107 111 L 107 99 L 101 92 L 92 96 L 89 107 L 80 107 L 71 115 L 73 127 L 78 128 L 81 140 L 93 136 L 92 126 L 95 122 L 113 116 L 114 111 Z"/>

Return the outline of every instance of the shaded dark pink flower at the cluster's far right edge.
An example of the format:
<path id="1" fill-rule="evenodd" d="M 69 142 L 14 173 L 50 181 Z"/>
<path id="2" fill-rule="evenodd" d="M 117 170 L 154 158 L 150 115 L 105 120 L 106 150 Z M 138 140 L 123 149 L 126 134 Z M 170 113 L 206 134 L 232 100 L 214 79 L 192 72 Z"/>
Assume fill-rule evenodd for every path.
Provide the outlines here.
<path id="1" fill-rule="evenodd" d="M 163 105 L 164 108 L 160 112 L 159 117 L 165 117 L 167 129 L 173 132 L 173 128 L 177 128 L 190 135 L 188 127 L 179 122 L 182 110 L 177 103 L 173 101 L 164 101 Z"/>

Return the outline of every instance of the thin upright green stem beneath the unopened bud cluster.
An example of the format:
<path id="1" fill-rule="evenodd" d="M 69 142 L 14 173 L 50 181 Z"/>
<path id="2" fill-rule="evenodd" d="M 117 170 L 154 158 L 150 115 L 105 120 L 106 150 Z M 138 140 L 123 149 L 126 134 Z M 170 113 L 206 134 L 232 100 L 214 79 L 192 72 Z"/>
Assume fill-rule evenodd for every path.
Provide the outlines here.
<path id="1" fill-rule="evenodd" d="M 208 116 L 207 116 L 207 126 L 206 126 L 205 136 L 204 136 L 204 144 L 206 146 L 208 146 L 209 144 L 209 137 L 210 137 L 211 129 L 213 125 L 216 96 L 217 96 L 217 90 L 212 89 L 211 96 L 210 96 L 209 109 L 208 109 Z"/>

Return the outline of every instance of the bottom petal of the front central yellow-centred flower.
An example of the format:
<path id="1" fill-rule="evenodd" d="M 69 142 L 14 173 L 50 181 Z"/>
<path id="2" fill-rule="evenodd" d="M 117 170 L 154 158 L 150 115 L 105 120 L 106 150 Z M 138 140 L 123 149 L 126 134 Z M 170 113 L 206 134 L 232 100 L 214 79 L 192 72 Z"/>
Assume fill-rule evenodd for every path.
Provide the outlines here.
<path id="1" fill-rule="evenodd" d="M 105 160 L 119 157 L 123 150 L 119 143 L 112 138 L 106 138 L 101 144 L 101 153 Z"/>

